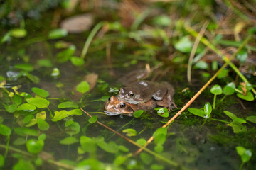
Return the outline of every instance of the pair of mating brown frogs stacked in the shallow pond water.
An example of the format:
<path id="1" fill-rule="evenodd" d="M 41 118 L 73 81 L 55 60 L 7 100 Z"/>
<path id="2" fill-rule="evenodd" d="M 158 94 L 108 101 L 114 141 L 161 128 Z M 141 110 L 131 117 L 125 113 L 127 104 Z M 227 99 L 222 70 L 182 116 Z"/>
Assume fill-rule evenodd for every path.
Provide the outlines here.
<path id="1" fill-rule="evenodd" d="M 119 94 L 110 97 L 105 103 L 107 115 L 130 115 L 137 110 L 150 111 L 156 106 L 177 108 L 174 100 L 174 88 L 167 82 L 138 81 L 122 87 Z"/>

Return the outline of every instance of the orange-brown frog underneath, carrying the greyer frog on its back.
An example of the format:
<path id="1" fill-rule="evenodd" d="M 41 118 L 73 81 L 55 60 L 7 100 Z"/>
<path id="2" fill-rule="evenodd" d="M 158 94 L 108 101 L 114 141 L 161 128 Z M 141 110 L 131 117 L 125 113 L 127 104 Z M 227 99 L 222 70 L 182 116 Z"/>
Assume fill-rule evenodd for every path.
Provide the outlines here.
<path id="1" fill-rule="evenodd" d="M 151 100 L 144 103 L 144 105 L 140 104 L 131 104 L 124 101 L 119 101 L 116 96 L 111 96 L 105 102 L 105 113 L 107 115 L 128 115 L 132 116 L 134 111 L 144 110 L 151 111 L 156 108 L 156 101 L 151 98 Z"/>

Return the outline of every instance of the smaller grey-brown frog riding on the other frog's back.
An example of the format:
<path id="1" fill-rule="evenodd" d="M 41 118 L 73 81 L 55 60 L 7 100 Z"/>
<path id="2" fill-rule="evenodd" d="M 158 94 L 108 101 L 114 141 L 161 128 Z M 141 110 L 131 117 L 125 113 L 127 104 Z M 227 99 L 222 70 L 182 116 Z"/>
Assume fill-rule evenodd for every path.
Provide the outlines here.
<path id="1" fill-rule="evenodd" d="M 174 93 L 174 87 L 166 81 L 158 83 L 143 80 L 121 87 L 117 99 L 130 104 L 140 104 L 143 107 L 144 103 L 154 98 L 156 101 L 161 101 L 159 103 L 163 103 L 164 106 L 168 104 L 166 107 L 170 111 L 177 108 L 173 99 Z"/>

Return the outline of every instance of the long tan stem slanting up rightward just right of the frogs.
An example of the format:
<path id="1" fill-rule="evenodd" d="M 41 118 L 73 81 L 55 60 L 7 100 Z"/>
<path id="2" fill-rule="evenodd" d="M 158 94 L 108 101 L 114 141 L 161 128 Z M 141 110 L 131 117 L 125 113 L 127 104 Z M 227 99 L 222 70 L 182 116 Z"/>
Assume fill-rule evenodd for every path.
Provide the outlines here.
<path id="1" fill-rule="evenodd" d="M 238 54 L 238 52 L 240 52 L 240 50 L 242 50 L 243 47 L 245 47 L 245 45 L 247 44 L 247 42 L 250 40 L 251 36 L 249 35 L 244 42 L 242 42 L 242 45 L 238 48 L 238 50 L 232 55 L 232 57 L 230 58 L 226 58 L 225 60 L 225 64 L 223 64 L 223 67 L 221 67 L 218 72 L 216 72 L 212 78 L 210 78 L 209 81 L 207 81 L 207 83 L 195 94 L 195 96 L 193 96 L 193 98 L 191 98 L 190 101 L 188 101 L 188 103 L 186 103 L 185 106 L 183 106 L 183 108 L 181 108 L 180 111 L 178 111 L 178 113 L 176 113 L 176 115 L 174 115 L 174 117 L 172 117 L 165 125 L 163 125 L 163 128 L 166 128 L 166 126 L 168 126 L 172 121 L 174 121 L 175 118 L 178 117 L 178 115 L 180 115 L 183 111 L 185 111 L 186 108 L 188 108 L 188 106 L 191 105 L 191 103 L 193 103 L 193 101 L 196 100 L 196 98 L 204 91 L 204 89 L 206 89 L 207 86 L 209 86 L 209 84 L 218 76 L 218 74 L 220 74 L 220 72 L 228 66 L 228 64 L 230 65 L 230 61 L 233 60 L 233 58 Z M 137 152 L 134 153 L 134 155 L 139 154 L 139 152 L 142 152 L 142 149 L 144 149 L 147 145 L 149 145 L 149 143 L 154 140 L 154 137 L 151 136 L 149 138 L 149 140 L 146 141 L 146 145 L 144 145 L 144 147 L 140 148 L 139 150 L 137 150 Z"/>

